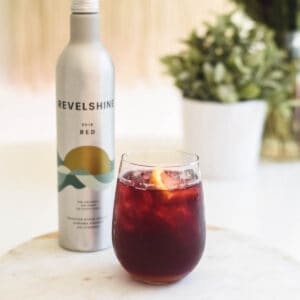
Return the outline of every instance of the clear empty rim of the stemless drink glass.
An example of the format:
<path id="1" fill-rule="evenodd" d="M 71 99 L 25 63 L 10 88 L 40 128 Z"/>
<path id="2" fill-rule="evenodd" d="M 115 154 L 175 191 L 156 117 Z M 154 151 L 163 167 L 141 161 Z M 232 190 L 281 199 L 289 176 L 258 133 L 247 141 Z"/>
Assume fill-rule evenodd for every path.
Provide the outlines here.
<path id="1" fill-rule="evenodd" d="M 141 162 L 136 162 L 134 159 L 129 159 L 131 156 L 134 155 L 151 155 L 151 154 L 181 154 L 185 157 L 189 157 L 190 160 L 187 162 L 182 162 L 182 163 L 168 163 L 168 164 L 160 164 L 160 163 L 141 163 Z M 127 163 L 133 166 L 137 167 L 144 167 L 144 168 L 184 168 L 184 167 L 190 167 L 194 165 L 199 165 L 199 155 L 194 152 L 186 152 L 186 151 L 130 151 L 130 152 L 125 152 L 121 155 L 121 162 L 122 163 Z"/>

